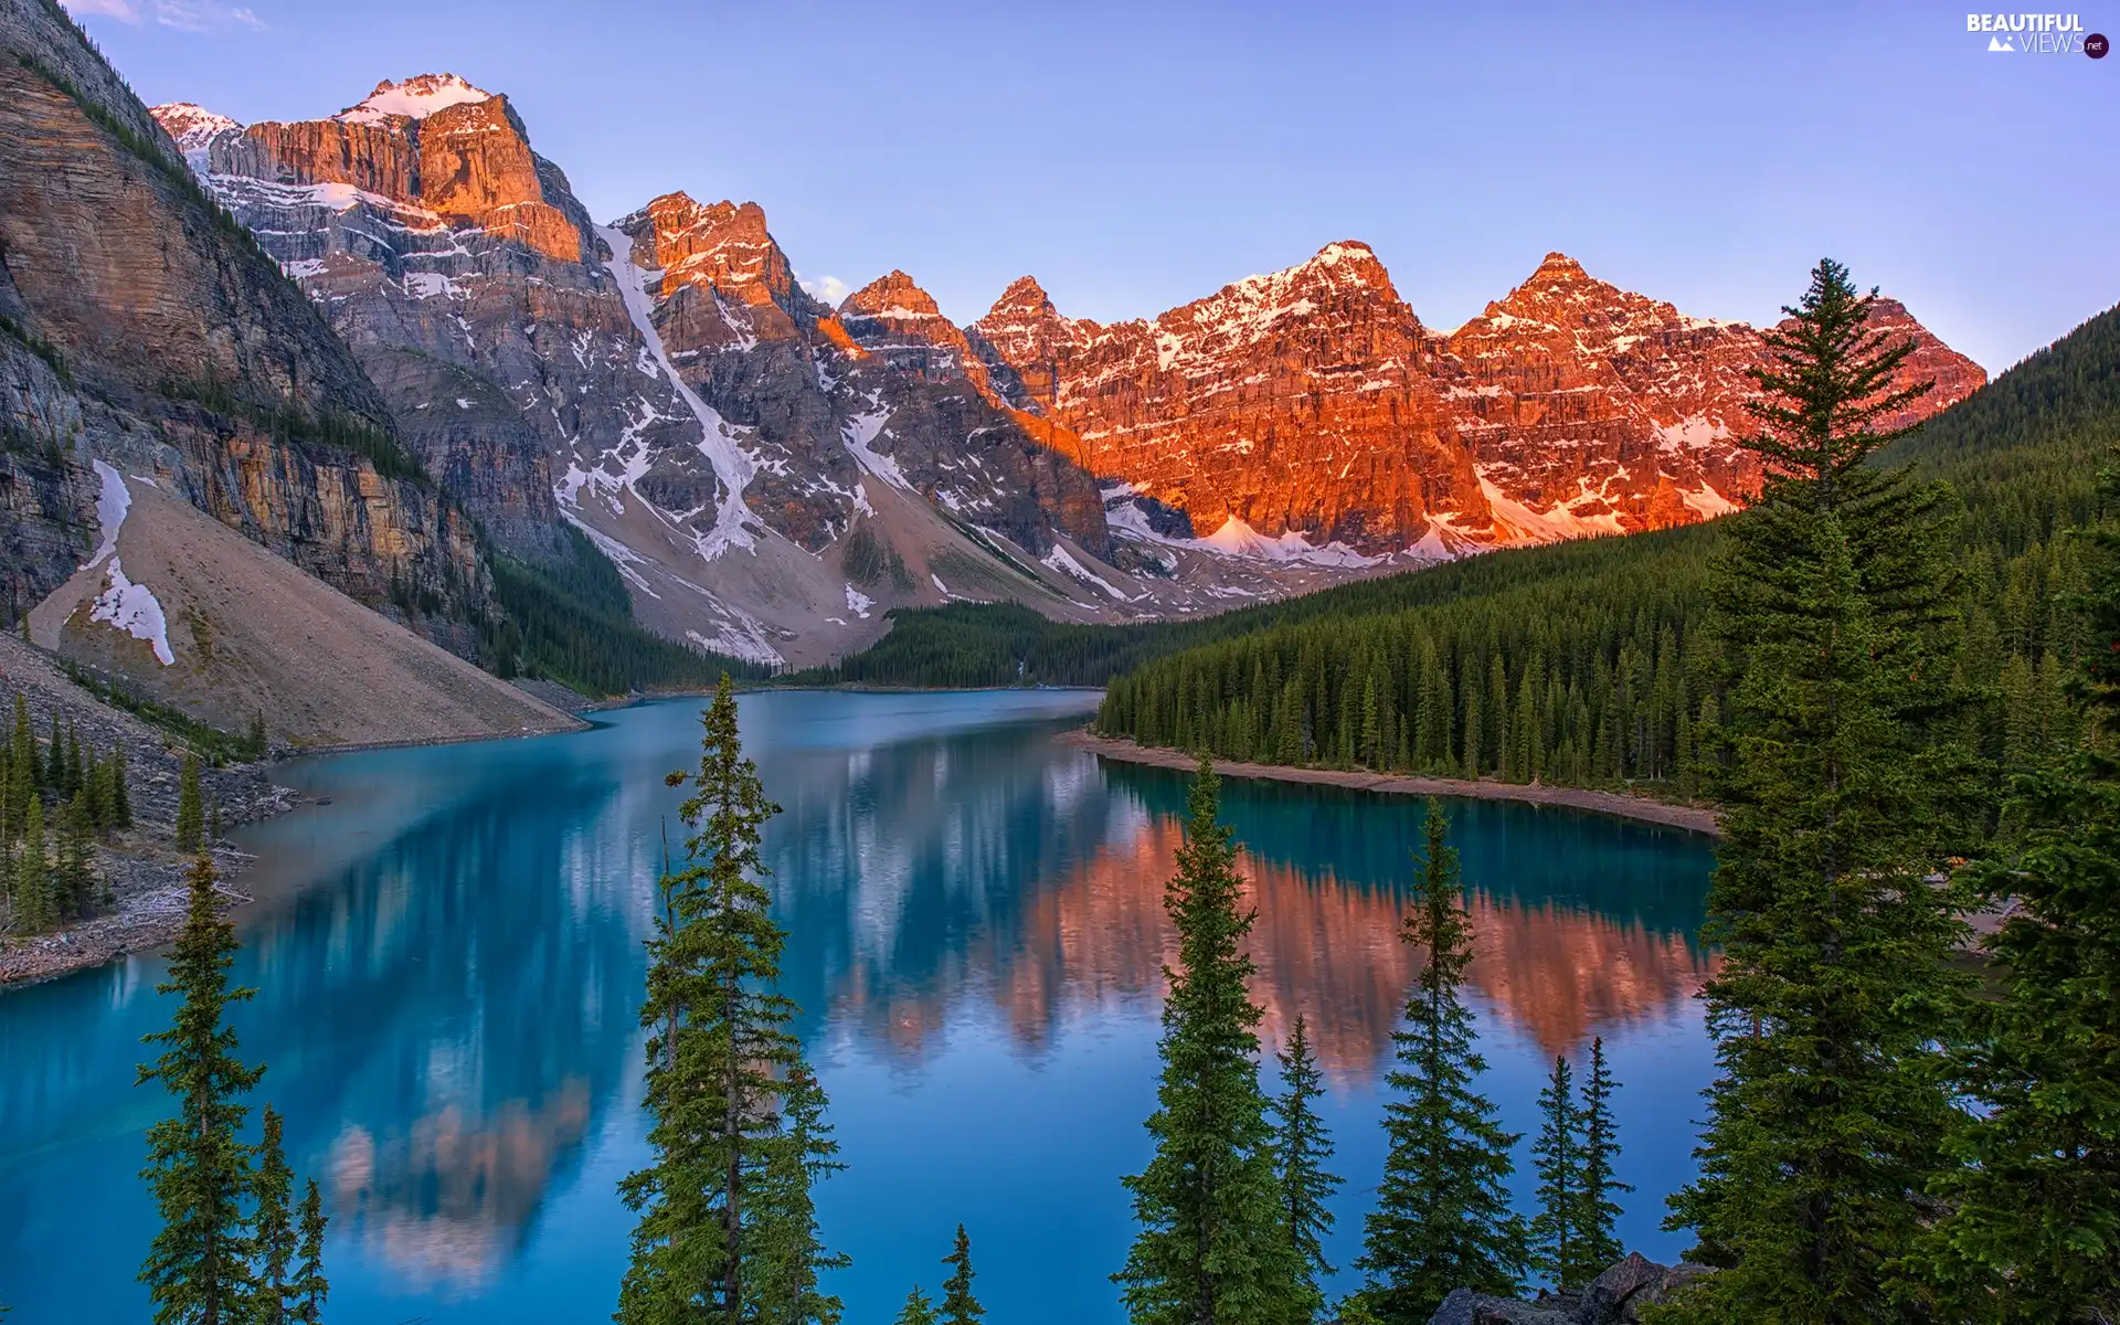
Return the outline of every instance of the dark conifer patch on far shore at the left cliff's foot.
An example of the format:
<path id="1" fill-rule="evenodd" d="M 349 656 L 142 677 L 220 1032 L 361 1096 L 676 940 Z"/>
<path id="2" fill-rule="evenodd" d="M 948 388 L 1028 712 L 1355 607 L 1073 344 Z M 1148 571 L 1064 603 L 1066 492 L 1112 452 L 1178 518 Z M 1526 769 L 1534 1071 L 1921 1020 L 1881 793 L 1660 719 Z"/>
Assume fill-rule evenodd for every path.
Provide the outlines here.
<path id="1" fill-rule="evenodd" d="M 757 664 L 706 653 L 634 621 L 625 581 L 589 538 L 562 526 L 566 558 L 522 562 L 492 553 L 494 598 L 505 613 L 485 632 L 488 668 L 502 678 L 543 676 L 585 695 L 636 689 L 710 689 L 727 672 L 765 674 Z"/>

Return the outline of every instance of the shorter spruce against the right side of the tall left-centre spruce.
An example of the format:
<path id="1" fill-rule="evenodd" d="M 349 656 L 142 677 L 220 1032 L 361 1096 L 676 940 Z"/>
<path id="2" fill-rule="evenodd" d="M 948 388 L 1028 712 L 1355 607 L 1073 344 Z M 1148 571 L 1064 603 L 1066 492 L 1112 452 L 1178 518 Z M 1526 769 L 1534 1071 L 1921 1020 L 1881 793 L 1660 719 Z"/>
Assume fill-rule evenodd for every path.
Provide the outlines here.
<path id="1" fill-rule="evenodd" d="M 825 1088 L 810 1064 L 789 1066 L 782 1088 L 782 1130 L 774 1138 L 753 1196 L 744 1259 L 750 1297 L 763 1325 L 833 1325 L 844 1304 L 818 1289 L 825 1270 L 844 1270 L 852 1257 L 825 1247 L 816 1225 L 814 1183 L 846 1168 L 840 1143 L 825 1121 Z"/>

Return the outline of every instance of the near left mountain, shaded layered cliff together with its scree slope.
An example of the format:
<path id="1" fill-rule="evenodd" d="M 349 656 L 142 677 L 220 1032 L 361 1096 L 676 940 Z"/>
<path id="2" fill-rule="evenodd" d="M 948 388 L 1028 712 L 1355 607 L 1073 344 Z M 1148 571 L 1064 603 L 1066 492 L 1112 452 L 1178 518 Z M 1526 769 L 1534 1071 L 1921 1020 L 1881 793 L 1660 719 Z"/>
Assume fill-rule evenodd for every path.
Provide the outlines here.
<path id="1" fill-rule="evenodd" d="M 0 2 L 0 611 L 148 697 L 314 738 L 314 676 L 229 666 L 293 642 L 301 585 L 337 666 L 399 700 L 348 740 L 570 725 L 435 647 L 500 615 L 477 528 L 312 301 L 61 8 Z M 121 547 L 136 502 L 180 515 Z"/>

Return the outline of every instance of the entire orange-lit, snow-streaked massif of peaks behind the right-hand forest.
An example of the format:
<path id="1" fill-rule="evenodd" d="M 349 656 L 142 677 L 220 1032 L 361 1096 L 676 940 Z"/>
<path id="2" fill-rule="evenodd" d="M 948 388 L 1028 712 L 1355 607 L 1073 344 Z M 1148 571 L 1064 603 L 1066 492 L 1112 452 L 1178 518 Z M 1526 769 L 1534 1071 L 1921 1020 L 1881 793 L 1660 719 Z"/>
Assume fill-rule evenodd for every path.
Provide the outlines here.
<path id="1" fill-rule="evenodd" d="M 1878 329 L 1919 350 L 1897 384 L 1986 375 L 1900 303 Z M 1427 333 L 1376 254 L 1331 244 L 1153 322 L 1062 316 L 1030 278 L 971 326 L 1013 405 L 1079 437 L 1083 462 L 1191 513 L 1397 551 L 1637 532 L 1719 515 L 1753 494 L 1743 322 L 1688 318 L 1548 254 L 1448 337 Z"/>

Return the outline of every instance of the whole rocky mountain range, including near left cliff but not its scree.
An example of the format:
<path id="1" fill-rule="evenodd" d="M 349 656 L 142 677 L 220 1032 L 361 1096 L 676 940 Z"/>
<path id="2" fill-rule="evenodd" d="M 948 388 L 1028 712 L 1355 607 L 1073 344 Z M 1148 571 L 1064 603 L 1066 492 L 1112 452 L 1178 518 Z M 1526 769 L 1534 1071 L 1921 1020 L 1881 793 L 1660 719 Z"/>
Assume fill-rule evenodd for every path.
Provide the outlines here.
<path id="1" fill-rule="evenodd" d="M 1202 615 L 1690 524 L 1760 481 L 1734 445 L 1760 331 L 1562 254 L 1454 331 L 1355 240 L 1128 322 L 1028 276 L 962 326 L 903 271 L 833 307 L 753 201 L 666 193 L 600 225 L 507 95 L 456 74 L 240 125 L 142 112 L 61 25 L 0 11 L 0 153 L 25 167 L 0 314 L 19 348 L 129 384 L 81 407 L 129 403 L 134 435 L 87 449 L 494 670 L 488 566 L 600 553 L 640 625 L 780 668 L 873 642 L 895 606 Z M 127 170 L 87 178 L 102 157 L 161 206 Z M 1984 382 L 1876 307 L 1916 341 L 1902 377 L 1938 384 L 1923 416 Z M 11 428 L 61 386 L 17 384 Z M 6 589 L 34 604 L 85 558 L 98 490 L 11 466 Z"/>

